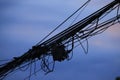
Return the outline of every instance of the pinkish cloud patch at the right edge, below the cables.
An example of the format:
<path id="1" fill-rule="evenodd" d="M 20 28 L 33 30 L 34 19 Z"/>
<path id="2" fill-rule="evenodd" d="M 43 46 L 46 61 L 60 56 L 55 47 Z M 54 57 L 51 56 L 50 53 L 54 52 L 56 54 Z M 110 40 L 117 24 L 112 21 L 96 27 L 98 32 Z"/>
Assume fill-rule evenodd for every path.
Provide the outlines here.
<path id="1" fill-rule="evenodd" d="M 119 23 L 111 26 L 102 34 L 96 35 L 90 40 L 90 44 L 102 49 L 116 50 L 120 45 L 120 28 Z"/>

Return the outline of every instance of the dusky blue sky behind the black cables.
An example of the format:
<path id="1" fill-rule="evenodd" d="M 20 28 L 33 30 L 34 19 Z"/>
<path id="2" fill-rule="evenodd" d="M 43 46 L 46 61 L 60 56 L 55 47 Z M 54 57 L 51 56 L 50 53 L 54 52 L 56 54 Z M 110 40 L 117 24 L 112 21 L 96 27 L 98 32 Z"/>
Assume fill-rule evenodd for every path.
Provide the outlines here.
<path id="1" fill-rule="evenodd" d="M 113 0 L 92 0 L 81 17 L 98 10 Z M 0 0 L 0 59 L 20 56 L 85 0 Z M 116 15 L 116 14 L 112 14 Z M 67 28 L 62 26 L 54 34 Z M 39 72 L 31 80 L 115 80 L 120 76 L 120 24 L 89 39 L 89 53 L 81 47 L 74 50 L 73 59 L 57 62 L 54 72 Z M 3 62 L 1 62 L 3 63 Z M 39 66 L 38 66 L 39 67 Z M 15 72 L 6 80 L 23 80 L 29 71 Z"/>

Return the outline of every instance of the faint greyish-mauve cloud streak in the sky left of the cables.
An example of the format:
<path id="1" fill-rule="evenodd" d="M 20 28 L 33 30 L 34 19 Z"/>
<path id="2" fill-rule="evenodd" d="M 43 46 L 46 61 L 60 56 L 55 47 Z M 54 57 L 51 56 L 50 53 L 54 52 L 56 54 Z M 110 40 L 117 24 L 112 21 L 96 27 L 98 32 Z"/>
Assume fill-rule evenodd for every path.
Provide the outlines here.
<path id="1" fill-rule="evenodd" d="M 5 28 L 0 33 L 2 33 L 3 38 L 33 42 L 40 40 L 48 32 L 49 29 L 45 27 L 38 28 L 27 25 L 13 25 L 12 27 L 9 26 Z"/>

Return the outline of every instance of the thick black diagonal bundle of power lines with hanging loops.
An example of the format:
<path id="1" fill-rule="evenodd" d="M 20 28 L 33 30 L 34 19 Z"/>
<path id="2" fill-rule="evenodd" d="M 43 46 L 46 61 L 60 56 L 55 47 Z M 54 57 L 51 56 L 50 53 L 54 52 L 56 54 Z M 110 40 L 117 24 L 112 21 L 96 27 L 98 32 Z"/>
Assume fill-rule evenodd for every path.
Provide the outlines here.
<path id="1" fill-rule="evenodd" d="M 14 57 L 14 59 L 11 60 L 10 62 L 1 65 L 0 79 L 2 80 L 9 73 L 16 71 L 18 69 L 23 69 L 26 66 L 30 68 L 30 74 L 28 77 L 28 79 L 30 79 L 30 77 L 33 74 L 31 69 L 32 64 L 38 60 L 41 63 L 40 67 L 42 71 L 44 71 L 46 74 L 52 72 L 54 70 L 55 61 L 61 62 L 64 61 L 65 59 L 68 59 L 69 53 L 73 51 L 76 42 L 80 42 L 81 44 L 81 40 L 87 41 L 89 37 L 99 34 L 108 28 L 108 26 L 107 27 L 102 27 L 102 26 L 108 25 L 112 22 L 115 23 L 115 21 L 120 18 L 120 15 L 118 14 L 117 17 L 113 17 L 112 19 L 107 20 L 101 24 L 98 23 L 101 17 L 104 14 L 106 14 L 108 10 L 112 11 L 117 4 L 119 4 L 118 0 L 109 3 L 108 5 L 92 13 L 86 18 L 82 19 L 81 21 L 78 21 L 77 23 L 73 24 L 72 26 L 60 32 L 59 34 L 53 36 L 52 38 L 36 46 L 33 46 L 32 49 L 28 50 L 22 56 Z M 96 26 L 87 27 L 91 23 L 96 24 Z M 79 36 L 76 34 L 78 34 Z M 70 44 L 72 48 L 66 49 L 66 44 L 68 47 Z M 83 46 L 82 48 L 84 49 L 85 53 L 87 53 L 88 42 L 87 42 L 87 50 Z M 52 67 L 50 64 L 52 64 Z M 36 73 L 36 69 L 34 70 L 34 73 Z"/>

